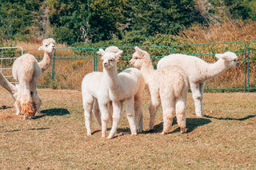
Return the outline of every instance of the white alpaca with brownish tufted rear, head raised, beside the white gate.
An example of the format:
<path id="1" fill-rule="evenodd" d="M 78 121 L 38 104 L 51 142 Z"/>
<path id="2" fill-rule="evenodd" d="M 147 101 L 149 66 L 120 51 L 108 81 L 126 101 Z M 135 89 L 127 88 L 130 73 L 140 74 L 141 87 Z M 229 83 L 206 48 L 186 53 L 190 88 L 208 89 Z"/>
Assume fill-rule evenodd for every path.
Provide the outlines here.
<path id="1" fill-rule="evenodd" d="M 49 58 L 54 53 L 54 43 L 52 38 L 43 41 L 43 45 L 39 49 L 43 49 L 45 55 L 39 63 L 29 53 L 18 57 L 14 61 L 12 72 L 14 79 L 18 81 L 17 93 L 14 95 L 16 99 L 14 105 L 17 111 L 16 114 L 24 114 L 24 119 L 34 117 L 36 112 L 39 113 L 42 101 L 36 89 L 37 82 L 42 75 L 42 71 L 46 70 L 50 65 Z"/>

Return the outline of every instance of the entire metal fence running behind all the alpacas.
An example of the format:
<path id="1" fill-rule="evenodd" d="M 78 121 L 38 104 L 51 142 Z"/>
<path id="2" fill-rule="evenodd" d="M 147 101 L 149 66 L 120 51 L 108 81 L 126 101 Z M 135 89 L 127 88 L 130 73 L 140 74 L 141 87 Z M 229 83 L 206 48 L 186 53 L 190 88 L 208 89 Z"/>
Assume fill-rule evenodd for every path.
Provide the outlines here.
<path id="1" fill-rule="evenodd" d="M 57 48 L 54 52 L 52 65 L 38 81 L 39 87 L 51 88 L 76 88 L 81 87 L 82 78 L 86 73 L 93 71 L 102 71 L 102 62 L 100 56 L 96 53 L 98 49 L 94 48 Z M 134 53 L 134 46 L 118 46 L 123 50 L 122 61 L 118 62 L 118 72 L 130 67 L 129 60 Z M 206 90 L 217 91 L 244 91 L 251 92 L 256 89 L 256 41 L 249 42 L 247 45 L 243 42 L 224 42 L 224 43 L 207 43 L 192 45 L 174 45 L 170 46 L 140 46 L 140 48 L 150 53 L 154 68 L 161 57 L 170 53 L 184 53 L 196 55 L 208 62 L 216 61 L 215 53 L 224 53 L 230 50 L 238 55 L 241 65 L 238 68 L 230 69 L 222 73 L 219 77 L 206 82 Z M 10 56 L 10 51 L 12 55 Z M 3 73 L 8 80 L 12 79 L 11 66 L 15 58 L 23 53 L 33 54 L 38 61 L 42 60 L 43 51 L 30 49 L 23 52 L 22 47 L 2 47 L 1 68 L 8 70 Z M 8 56 L 9 55 L 9 56 Z M 4 61 L 5 60 L 5 61 Z M 12 81 L 14 82 L 14 81 Z"/>

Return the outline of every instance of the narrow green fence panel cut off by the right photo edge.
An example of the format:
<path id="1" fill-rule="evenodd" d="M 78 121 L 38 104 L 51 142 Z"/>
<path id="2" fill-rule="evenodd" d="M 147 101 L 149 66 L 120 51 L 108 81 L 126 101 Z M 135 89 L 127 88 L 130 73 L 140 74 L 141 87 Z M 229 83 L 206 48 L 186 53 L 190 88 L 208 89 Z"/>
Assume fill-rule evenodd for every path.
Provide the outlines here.
<path id="1" fill-rule="evenodd" d="M 256 41 L 247 44 L 247 91 L 256 91 Z"/>

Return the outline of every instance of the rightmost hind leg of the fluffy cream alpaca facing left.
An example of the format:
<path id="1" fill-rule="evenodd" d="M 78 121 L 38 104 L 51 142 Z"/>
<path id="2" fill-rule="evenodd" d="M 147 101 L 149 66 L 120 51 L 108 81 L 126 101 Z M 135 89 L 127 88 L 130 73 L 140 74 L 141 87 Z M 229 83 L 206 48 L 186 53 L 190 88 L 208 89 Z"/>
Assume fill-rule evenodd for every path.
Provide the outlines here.
<path id="1" fill-rule="evenodd" d="M 186 132 L 186 98 L 178 97 L 175 107 L 178 126 Z"/>

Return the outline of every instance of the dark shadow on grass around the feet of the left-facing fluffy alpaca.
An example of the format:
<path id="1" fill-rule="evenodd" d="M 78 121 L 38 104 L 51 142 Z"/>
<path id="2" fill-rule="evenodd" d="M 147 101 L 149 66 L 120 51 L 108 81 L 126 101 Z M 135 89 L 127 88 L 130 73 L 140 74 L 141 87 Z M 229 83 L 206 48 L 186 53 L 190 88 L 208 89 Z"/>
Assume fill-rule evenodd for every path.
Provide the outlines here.
<path id="1" fill-rule="evenodd" d="M 206 118 L 186 118 L 186 132 L 192 132 L 195 128 L 198 128 L 199 126 L 202 125 L 207 125 L 210 124 L 210 120 Z M 174 117 L 173 125 L 177 125 L 177 119 Z M 162 126 L 163 122 L 161 122 L 158 125 L 154 125 L 154 129 L 152 129 L 150 132 L 146 133 L 161 133 L 162 132 Z M 169 133 L 174 133 L 174 132 L 180 132 L 180 128 L 176 128 L 173 131 L 170 131 Z"/>

